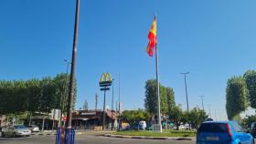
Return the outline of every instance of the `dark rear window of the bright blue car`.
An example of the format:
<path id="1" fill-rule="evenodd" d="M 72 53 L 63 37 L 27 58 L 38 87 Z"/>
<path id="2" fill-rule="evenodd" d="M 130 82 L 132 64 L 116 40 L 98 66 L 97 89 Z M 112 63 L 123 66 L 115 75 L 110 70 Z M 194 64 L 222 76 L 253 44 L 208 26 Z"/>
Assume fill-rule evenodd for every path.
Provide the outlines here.
<path id="1" fill-rule="evenodd" d="M 226 123 L 203 123 L 198 132 L 227 132 Z"/>

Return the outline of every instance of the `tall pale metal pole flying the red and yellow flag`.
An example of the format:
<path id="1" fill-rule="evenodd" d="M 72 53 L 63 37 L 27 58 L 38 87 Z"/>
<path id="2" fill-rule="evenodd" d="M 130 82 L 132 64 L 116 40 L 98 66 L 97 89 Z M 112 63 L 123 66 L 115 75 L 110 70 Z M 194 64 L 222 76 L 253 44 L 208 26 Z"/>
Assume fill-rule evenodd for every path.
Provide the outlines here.
<path id="1" fill-rule="evenodd" d="M 156 19 L 156 16 L 155 16 Z M 157 40 L 155 36 L 155 68 L 156 68 L 156 81 L 157 81 L 157 116 L 158 116 L 158 125 L 160 127 L 160 132 L 162 132 L 161 125 L 161 106 L 160 106 L 160 92 L 159 92 L 159 72 L 158 72 L 158 53 L 157 53 Z"/>

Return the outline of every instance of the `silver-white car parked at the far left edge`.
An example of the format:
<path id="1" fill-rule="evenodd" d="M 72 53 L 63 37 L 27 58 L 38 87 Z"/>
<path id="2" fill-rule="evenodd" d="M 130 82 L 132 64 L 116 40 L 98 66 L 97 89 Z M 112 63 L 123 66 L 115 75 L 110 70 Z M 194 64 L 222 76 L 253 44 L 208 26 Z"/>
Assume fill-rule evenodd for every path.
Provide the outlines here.
<path id="1" fill-rule="evenodd" d="M 5 129 L 2 129 L 2 137 L 16 137 L 16 136 L 27 136 L 31 135 L 31 130 L 26 126 L 7 126 Z"/>

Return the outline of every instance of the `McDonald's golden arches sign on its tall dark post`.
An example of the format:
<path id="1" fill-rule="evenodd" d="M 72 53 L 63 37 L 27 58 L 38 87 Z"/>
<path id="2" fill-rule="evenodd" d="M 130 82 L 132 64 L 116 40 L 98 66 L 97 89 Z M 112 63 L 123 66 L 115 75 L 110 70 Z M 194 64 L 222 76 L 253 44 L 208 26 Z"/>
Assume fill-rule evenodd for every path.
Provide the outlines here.
<path id="1" fill-rule="evenodd" d="M 104 91 L 104 102 L 103 102 L 103 120 L 102 120 L 102 130 L 105 129 L 105 121 L 106 121 L 106 91 L 110 90 L 110 86 L 112 86 L 112 76 L 110 73 L 103 73 L 100 79 L 100 87 L 101 91 Z"/>

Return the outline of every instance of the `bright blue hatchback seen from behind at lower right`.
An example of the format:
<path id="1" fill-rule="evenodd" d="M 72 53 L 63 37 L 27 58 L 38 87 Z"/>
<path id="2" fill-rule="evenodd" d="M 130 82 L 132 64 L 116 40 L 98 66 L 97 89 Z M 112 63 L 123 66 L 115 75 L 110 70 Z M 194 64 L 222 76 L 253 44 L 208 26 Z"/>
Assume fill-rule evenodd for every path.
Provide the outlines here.
<path id="1" fill-rule="evenodd" d="M 254 144 L 236 121 L 207 121 L 197 130 L 197 144 Z"/>

